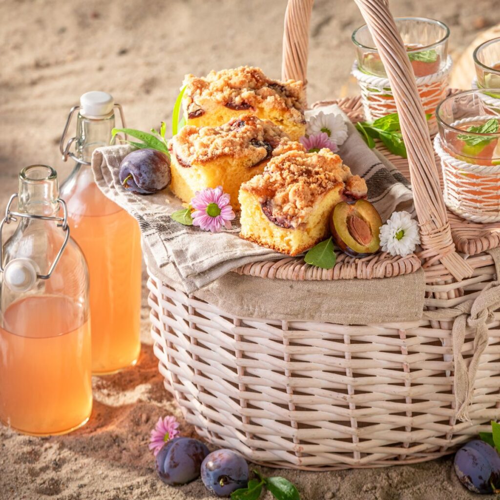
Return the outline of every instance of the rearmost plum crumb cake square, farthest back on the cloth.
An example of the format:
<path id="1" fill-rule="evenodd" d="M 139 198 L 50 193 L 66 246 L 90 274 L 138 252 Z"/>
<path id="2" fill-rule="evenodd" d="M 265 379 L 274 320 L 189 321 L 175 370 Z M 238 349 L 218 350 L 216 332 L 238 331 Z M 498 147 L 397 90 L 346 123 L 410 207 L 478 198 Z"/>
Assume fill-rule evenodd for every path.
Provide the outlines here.
<path id="1" fill-rule="evenodd" d="M 258 67 L 187 74 L 182 108 L 188 125 L 218 126 L 234 116 L 252 113 L 283 127 L 291 139 L 305 133 L 305 95 L 301 81 L 271 80 Z"/>

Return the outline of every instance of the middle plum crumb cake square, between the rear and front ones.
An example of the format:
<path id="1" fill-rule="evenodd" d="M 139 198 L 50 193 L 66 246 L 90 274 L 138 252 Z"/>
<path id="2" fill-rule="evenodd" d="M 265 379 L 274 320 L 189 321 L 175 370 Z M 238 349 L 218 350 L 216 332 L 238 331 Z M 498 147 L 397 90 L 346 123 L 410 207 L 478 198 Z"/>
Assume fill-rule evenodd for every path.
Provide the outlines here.
<path id="1" fill-rule="evenodd" d="M 246 114 L 217 127 L 185 125 L 171 139 L 171 191 L 188 203 L 195 191 L 222 186 L 239 210 L 242 182 L 261 173 L 269 158 L 303 146 L 269 120 Z"/>

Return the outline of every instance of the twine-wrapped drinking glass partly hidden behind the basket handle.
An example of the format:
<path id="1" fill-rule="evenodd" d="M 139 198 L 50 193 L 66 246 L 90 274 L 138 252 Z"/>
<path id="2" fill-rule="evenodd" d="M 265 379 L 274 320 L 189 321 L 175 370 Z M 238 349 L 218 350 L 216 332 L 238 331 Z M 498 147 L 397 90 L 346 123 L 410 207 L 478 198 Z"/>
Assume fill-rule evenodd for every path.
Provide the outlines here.
<path id="1" fill-rule="evenodd" d="M 443 22 L 422 17 L 395 19 L 415 74 L 418 93 L 431 132 L 437 130 L 434 112 L 447 91 L 451 57 L 448 56 L 449 29 Z M 396 112 L 396 106 L 387 74 L 378 50 L 374 47 L 366 25 L 352 33 L 357 59 L 352 74 L 361 90 L 364 115 L 367 120 Z"/>

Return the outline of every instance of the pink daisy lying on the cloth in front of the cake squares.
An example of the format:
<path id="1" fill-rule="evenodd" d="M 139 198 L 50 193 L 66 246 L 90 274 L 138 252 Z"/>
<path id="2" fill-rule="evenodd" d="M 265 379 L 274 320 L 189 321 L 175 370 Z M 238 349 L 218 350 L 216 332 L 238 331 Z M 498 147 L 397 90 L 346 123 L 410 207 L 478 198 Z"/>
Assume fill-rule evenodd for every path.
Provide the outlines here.
<path id="1" fill-rule="evenodd" d="M 196 191 L 191 206 L 193 225 L 205 231 L 219 232 L 222 226 L 230 229 L 231 220 L 236 216 L 229 204 L 229 194 L 222 191 L 222 186 Z"/>

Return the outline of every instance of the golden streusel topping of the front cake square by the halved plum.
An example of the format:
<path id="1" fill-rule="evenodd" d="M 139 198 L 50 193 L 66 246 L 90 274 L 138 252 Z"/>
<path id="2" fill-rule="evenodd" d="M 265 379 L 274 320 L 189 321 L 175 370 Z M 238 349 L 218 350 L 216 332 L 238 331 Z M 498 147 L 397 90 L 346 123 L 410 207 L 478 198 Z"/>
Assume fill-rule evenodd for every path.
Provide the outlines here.
<path id="1" fill-rule="evenodd" d="M 346 183 L 360 195 L 366 183 L 352 175 L 340 156 L 323 148 L 318 153 L 289 151 L 272 158 L 263 173 L 241 185 L 265 204 L 272 217 L 299 225 L 311 211 L 318 197 Z"/>

